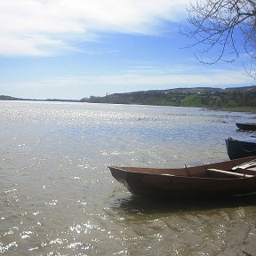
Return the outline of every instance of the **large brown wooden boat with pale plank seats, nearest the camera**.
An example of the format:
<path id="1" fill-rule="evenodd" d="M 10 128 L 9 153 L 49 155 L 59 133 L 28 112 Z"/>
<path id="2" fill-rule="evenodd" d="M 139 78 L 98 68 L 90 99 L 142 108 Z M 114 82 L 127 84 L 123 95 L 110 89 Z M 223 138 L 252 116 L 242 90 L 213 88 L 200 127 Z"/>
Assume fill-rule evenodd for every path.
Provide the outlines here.
<path id="1" fill-rule="evenodd" d="M 137 196 L 209 197 L 256 192 L 256 156 L 179 169 L 108 167 Z"/>

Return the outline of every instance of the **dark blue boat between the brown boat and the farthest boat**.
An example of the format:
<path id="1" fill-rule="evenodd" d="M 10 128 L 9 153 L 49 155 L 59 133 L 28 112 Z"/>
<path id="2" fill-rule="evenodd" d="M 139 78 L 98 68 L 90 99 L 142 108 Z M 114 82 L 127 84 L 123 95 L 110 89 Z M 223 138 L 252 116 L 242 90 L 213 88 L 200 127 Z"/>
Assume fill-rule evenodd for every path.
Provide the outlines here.
<path id="1" fill-rule="evenodd" d="M 246 156 L 256 156 L 256 140 L 225 140 L 228 157 L 230 159 L 242 158 Z"/>

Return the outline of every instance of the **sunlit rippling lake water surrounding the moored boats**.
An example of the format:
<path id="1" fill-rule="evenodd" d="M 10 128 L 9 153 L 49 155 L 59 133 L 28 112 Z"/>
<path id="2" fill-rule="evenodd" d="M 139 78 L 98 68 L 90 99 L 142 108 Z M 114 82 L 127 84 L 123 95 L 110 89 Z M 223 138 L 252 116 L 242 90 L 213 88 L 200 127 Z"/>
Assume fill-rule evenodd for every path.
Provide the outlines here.
<path id="1" fill-rule="evenodd" d="M 228 160 L 245 113 L 0 101 L 0 254 L 255 255 L 255 196 L 133 197 L 108 165 Z"/>

